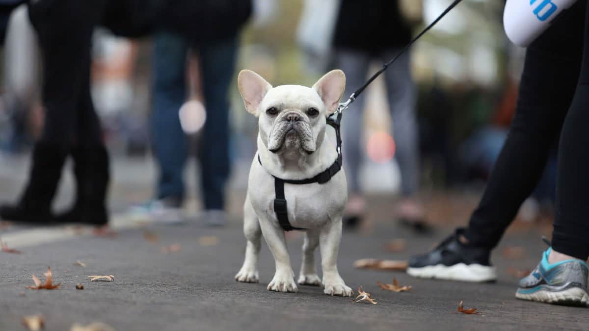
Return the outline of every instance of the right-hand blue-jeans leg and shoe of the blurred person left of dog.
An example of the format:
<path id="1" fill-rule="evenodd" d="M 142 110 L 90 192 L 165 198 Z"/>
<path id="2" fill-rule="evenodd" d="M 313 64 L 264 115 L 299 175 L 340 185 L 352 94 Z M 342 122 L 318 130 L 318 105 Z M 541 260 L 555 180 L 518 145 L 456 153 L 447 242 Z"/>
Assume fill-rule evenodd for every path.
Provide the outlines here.
<path id="1" fill-rule="evenodd" d="M 225 184 L 229 178 L 229 86 L 237 57 L 237 37 L 200 45 L 204 123 L 200 145 L 204 209 L 211 225 L 224 223 Z M 218 224 L 216 224 L 218 223 Z"/>

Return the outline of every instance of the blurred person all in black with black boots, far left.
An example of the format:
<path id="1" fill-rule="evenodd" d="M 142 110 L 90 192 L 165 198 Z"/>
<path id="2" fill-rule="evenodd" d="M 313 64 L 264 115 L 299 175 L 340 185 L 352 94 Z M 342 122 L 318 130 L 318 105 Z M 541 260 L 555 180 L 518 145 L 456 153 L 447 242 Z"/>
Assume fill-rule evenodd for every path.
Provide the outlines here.
<path id="1" fill-rule="evenodd" d="M 41 48 L 45 123 L 32 151 L 28 183 L 16 204 L 0 207 L 2 219 L 38 223 L 108 222 L 105 197 L 108 153 L 90 95 L 91 37 L 106 0 L 29 2 Z M 54 217 L 51 204 L 65 159 L 74 160 L 76 200 Z"/>

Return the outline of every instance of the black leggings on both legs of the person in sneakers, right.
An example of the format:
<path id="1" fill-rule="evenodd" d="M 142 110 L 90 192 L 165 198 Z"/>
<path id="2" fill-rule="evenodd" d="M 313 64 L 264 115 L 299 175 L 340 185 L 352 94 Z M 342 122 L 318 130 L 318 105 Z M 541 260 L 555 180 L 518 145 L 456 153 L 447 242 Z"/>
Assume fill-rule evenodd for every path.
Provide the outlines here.
<path id="1" fill-rule="evenodd" d="M 583 260 L 589 255 L 589 112 L 584 109 L 589 90 L 582 83 L 589 81 L 587 50 L 582 56 L 583 44 L 589 46 L 583 42 L 586 8 L 586 1 L 578 1 L 528 48 L 507 141 L 465 232 L 475 246 L 497 246 L 537 185 L 562 128 L 552 246 Z"/>

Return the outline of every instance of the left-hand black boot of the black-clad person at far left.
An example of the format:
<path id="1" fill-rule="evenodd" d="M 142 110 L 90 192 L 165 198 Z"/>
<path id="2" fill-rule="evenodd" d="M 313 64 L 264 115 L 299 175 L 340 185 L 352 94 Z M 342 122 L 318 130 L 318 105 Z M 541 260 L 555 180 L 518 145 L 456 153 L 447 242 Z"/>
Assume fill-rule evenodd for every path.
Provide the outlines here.
<path id="1" fill-rule="evenodd" d="M 54 219 L 51 204 L 66 156 L 66 151 L 57 145 L 35 144 L 25 191 L 18 203 L 0 206 L 0 217 L 16 222 L 51 223 Z"/>

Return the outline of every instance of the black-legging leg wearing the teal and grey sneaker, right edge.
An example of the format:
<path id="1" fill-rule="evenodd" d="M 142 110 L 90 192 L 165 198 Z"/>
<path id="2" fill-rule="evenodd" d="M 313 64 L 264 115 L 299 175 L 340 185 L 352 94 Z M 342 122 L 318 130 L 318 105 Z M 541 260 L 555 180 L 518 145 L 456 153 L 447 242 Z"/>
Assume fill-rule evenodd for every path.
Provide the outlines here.
<path id="1" fill-rule="evenodd" d="M 558 145 L 557 204 L 552 247 L 542 254 L 515 296 L 546 303 L 589 305 L 589 10 L 583 64 Z"/>

